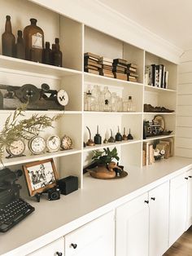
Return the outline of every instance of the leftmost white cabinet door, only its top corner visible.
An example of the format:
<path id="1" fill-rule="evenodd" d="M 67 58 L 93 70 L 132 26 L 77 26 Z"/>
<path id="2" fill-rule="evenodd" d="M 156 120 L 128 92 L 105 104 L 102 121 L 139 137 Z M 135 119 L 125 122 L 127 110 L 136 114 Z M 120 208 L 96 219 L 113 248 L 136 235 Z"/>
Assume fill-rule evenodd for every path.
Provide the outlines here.
<path id="1" fill-rule="evenodd" d="M 64 239 L 63 237 L 59 238 L 56 241 L 53 241 L 49 245 L 43 246 L 40 249 L 37 249 L 32 254 L 28 256 L 64 256 Z"/>

